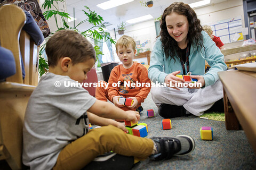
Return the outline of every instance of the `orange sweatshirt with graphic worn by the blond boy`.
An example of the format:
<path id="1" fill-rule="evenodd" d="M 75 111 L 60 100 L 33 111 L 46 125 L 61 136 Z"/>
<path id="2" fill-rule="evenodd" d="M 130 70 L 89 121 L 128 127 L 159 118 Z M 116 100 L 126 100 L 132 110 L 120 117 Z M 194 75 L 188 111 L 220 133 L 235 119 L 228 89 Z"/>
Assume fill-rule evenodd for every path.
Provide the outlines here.
<path id="1" fill-rule="evenodd" d="M 147 98 L 151 89 L 148 70 L 137 62 L 134 62 L 129 69 L 125 69 L 123 64 L 115 66 L 110 73 L 108 82 L 108 97 L 111 101 L 114 96 L 135 97 L 140 105 Z M 119 87 L 112 86 L 113 83 L 118 82 L 120 82 Z M 135 87 L 132 87 L 131 83 L 135 83 Z"/>

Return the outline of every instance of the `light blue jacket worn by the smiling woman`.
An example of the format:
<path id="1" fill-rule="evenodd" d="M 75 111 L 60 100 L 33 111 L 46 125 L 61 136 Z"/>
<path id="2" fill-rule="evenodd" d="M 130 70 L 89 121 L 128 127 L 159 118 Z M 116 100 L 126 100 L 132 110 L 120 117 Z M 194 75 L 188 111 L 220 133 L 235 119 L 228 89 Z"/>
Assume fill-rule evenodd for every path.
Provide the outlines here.
<path id="1" fill-rule="evenodd" d="M 193 75 L 203 75 L 205 87 L 214 84 L 218 79 L 218 72 L 227 70 L 227 65 L 224 62 L 224 56 L 220 49 L 215 45 L 210 36 L 202 31 L 204 39 L 204 48 L 200 50 L 200 46 L 193 43 L 190 47 L 189 54 L 189 71 Z M 211 66 L 210 70 L 205 72 L 205 60 Z M 185 65 L 187 73 L 187 64 Z M 164 83 L 165 77 L 174 72 L 181 71 L 183 73 L 179 57 L 175 56 L 174 60 L 170 57 L 166 59 L 162 42 L 160 38 L 156 40 L 156 44 L 152 50 L 150 58 L 150 67 L 148 69 L 148 77 L 153 82 Z"/>

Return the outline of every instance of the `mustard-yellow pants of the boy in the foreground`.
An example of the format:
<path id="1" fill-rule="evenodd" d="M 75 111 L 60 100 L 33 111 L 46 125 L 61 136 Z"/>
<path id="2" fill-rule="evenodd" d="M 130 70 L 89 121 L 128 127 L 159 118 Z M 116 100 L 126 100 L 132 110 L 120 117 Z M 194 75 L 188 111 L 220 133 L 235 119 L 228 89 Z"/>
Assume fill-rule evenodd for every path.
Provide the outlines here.
<path id="1" fill-rule="evenodd" d="M 146 159 L 153 151 L 153 140 L 126 134 L 113 125 L 90 130 L 63 148 L 53 169 L 81 169 L 95 157 L 113 150 L 135 159 Z"/>

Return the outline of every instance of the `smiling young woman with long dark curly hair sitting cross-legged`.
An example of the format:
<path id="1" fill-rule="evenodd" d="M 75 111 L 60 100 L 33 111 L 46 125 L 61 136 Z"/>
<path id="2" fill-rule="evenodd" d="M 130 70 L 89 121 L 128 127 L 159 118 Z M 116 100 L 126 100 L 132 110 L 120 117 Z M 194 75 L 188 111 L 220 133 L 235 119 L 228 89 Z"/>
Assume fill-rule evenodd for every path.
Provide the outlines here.
<path id="1" fill-rule="evenodd" d="M 160 27 L 148 70 L 151 81 L 167 85 L 151 88 L 159 115 L 200 116 L 214 103 L 220 103 L 223 110 L 223 90 L 217 73 L 225 71 L 227 65 L 220 49 L 203 31 L 195 11 L 188 4 L 175 2 L 164 10 Z M 207 73 L 205 61 L 211 66 Z M 184 82 L 176 75 L 188 72 L 202 84 L 201 88 L 174 86 L 177 81 Z"/>

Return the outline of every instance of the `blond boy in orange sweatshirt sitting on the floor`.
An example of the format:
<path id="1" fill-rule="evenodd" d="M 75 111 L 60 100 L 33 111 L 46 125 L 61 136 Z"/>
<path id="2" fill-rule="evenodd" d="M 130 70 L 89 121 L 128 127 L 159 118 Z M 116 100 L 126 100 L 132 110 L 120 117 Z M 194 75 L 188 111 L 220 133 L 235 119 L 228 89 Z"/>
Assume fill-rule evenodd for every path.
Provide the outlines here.
<path id="1" fill-rule="evenodd" d="M 142 111 L 141 103 L 147 98 L 151 88 L 146 67 L 133 62 L 133 57 L 136 54 L 135 47 L 136 42 L 130 36 L 124 35 L 117 40 L 116 53 L 123 64 L 115 66 L 111 71 L 107 89 L 96 88 L 95 97 L 97 99 L 109 100 L 124 111 Z M 132 86 L 132 83 L 135 83 L 135 87 Z M 133 104 L 131 106 L 119 104 L 120 97 L 133 99 Z"/>

